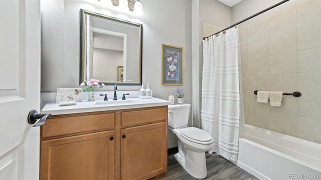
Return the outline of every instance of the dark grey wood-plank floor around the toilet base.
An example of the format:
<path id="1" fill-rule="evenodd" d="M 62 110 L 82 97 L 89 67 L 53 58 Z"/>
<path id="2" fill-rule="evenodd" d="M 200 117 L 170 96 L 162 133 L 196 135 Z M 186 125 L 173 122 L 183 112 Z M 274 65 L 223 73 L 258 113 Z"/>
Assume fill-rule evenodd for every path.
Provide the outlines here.
<path id="1" fill-rule="evenodd" d="M 174 154 L 177 149 L 170 149 L 168 154 L 168 171 L 165 174 L 151 178 L 152 180 L 175 179 L 189 180 L 197 179 L 192 177 L 177 162 Z M 207 177 L 205 179 L 215 180 L 259 180 L 259 178 L 243 170 L 234 163 L 226 160 L 217 153 L 206 153 Z"/>

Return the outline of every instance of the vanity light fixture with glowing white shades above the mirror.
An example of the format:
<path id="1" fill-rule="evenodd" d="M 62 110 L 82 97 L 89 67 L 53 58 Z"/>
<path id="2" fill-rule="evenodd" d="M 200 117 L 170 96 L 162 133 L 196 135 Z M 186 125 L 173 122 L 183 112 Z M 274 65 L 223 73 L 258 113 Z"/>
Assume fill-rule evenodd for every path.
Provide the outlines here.
<path id="1" fill-rule="evenodd" d="M 117 6 L 121 11 L 132 11 L 136 15 L 142 15 L 142 5 L 140 0 L 99 0 L 107 4 L 107 6 Z"/>

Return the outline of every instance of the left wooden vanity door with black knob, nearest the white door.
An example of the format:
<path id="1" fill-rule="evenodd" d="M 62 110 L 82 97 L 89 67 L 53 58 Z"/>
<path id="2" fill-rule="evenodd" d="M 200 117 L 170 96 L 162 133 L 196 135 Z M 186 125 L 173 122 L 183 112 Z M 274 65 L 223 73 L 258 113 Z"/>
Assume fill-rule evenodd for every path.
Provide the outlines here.
<path id="1" fill-rule="evenodd" d="M 113 179 L 113 137 L 109 130 L 41 141 L 40 179 Z"/>

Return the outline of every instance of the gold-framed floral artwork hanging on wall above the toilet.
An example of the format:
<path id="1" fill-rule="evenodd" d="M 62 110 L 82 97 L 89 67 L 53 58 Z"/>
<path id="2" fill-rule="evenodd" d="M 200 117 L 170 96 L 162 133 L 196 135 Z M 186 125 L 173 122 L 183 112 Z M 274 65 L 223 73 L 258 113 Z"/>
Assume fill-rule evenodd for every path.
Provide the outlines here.
<path id="1" fill-rule="evenodd" d="M 162 44 L 162 85 L 183 85 L 183 47 Z"/>

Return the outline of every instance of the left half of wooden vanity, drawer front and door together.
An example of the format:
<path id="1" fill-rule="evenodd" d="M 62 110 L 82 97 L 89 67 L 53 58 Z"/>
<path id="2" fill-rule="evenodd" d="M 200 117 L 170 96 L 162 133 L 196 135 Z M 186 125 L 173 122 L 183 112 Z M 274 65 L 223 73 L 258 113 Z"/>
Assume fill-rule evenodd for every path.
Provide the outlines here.
<path id="1" fill-rule="evenodd" d="M 41 127 L 40 179 L 113 179 L 115 113 L 53 115 Z"/>

